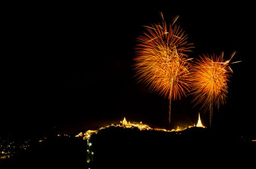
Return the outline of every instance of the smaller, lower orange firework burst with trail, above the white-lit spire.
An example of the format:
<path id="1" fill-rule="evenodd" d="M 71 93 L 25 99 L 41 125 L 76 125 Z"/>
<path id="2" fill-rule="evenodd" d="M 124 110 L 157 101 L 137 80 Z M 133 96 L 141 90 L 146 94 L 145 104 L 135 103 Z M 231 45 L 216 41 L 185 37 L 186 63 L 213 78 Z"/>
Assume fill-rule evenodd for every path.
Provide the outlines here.
<path id="1" fill-rule="evenodd" d="M 231 58 L 235 55 L 232 54 Z M 230 72 L 229 61 L 224 61 L 222 56 L 203 55 L 193 64 L 191 70 L 191 94 L 194 96 L 192 102 L 195 105 L 202 104 L 201 109 L 209 111 L 210 126 L 213 114 L 213 105 L 217 108 L 225 103 L 227 98 L 227 83 Z M 240 61 L 239 61 L 240 62 Z M 237 63 L 237 62 L 233 62 Z"/>

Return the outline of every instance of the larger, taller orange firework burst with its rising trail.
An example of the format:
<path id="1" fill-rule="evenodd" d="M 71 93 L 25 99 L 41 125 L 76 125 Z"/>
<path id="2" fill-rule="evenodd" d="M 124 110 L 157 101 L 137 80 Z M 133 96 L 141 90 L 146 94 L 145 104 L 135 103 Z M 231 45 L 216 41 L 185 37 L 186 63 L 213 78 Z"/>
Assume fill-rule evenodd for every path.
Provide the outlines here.
<path id="1" fill-rule="evenodd" d="M 176 21 L 177 17 L 174 19 Z M 173 24 L 174 24 L 173 22 Z M 180 99 L 188 91 L 190 64 L 188 56 L 183 52 L 190 51 L 191 44 L 187 35 L 179 26 L 160 24 L 145 27 L 136 49 L 134 69 L 139 82 L 149 86 L 168 98 L 169 124 L 171 120 L 171 100 Z"/>

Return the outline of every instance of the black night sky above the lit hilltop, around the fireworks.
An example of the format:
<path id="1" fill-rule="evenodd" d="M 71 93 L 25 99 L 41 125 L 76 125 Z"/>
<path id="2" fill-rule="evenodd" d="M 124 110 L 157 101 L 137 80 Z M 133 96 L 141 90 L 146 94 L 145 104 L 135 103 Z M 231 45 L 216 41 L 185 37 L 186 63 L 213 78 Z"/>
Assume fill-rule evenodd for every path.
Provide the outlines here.
<path id="1" fill-rule="evenodd" d="M 167 22 L 179 15 L 176 24 L 194 43 L 190 57 L 224 51 L 228 59 L 237 51 L 232 60 L 242 62 L 232 65 L 213 127 L 255 129 L 252 4 L 97 3 L 17 6 L 4 15 L 0 134 L 70 132 L 123 117 L 166 127 L 168 99 L 137 84 L 132 70 L 136 38 L 144 25 L 161 22 L 160 12 Z M 190 101 L 172 102 L 172 127 L 196 122 L 199 107 Z M 207 113 L 201 118 L 208 125 Z"/>

